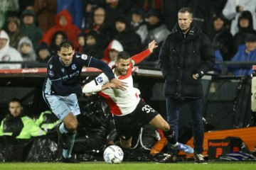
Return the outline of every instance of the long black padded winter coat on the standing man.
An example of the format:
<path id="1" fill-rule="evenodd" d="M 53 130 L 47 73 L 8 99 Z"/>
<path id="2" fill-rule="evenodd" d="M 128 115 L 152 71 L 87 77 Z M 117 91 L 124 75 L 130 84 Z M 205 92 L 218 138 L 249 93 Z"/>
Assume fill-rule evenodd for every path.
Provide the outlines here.
<path id="1" fill-rule="evenodd" d="M 191 23 L 184 35 L 178 24 L 161 46 L 159 67 L 164 76 L 164 95 L 178 100 L 202 98 L 201 77 L 213 69 L 213 45 L 202 30 Z M 193 79 L 193 74 L 199 79 Z"/>

